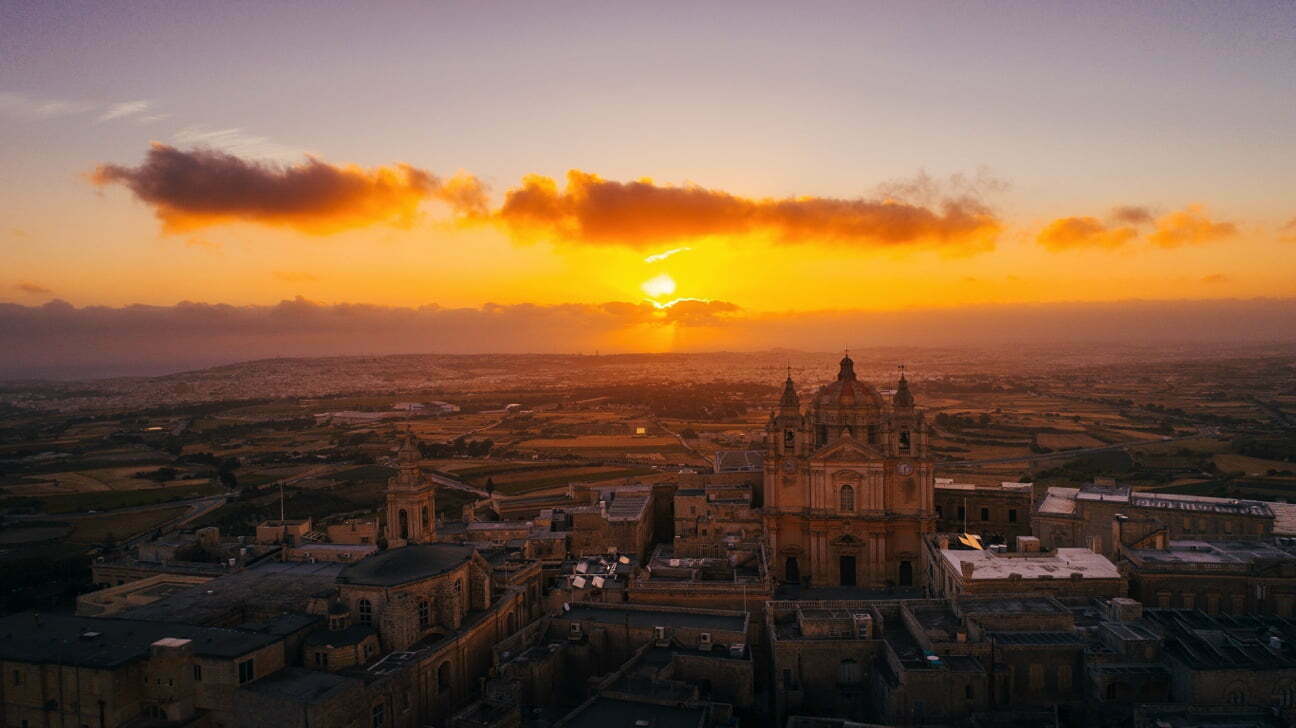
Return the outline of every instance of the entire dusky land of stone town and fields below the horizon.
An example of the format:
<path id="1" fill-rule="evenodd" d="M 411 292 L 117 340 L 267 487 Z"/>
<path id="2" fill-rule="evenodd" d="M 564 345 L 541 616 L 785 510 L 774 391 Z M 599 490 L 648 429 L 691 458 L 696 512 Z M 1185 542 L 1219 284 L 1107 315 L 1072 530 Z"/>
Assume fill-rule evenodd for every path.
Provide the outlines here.
<path id="1" fill-rule="evenodd" d="M 0 383 L 5 727 L 1296 724 L 1296 348 Z"/>

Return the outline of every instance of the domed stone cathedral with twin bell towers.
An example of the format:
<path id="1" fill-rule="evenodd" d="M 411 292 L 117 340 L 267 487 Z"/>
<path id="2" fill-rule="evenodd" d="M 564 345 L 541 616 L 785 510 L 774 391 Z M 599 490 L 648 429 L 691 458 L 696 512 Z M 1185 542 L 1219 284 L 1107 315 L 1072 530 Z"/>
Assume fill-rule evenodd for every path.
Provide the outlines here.
<path id="1" fill-rule="evenodd" d="M 814 587 L 921 586 L 936 529 L 928 427 L 903 373 L 890 402 L 850 356 L 802 411 L 792 374 L 766 426 L 771 569 Z"/>

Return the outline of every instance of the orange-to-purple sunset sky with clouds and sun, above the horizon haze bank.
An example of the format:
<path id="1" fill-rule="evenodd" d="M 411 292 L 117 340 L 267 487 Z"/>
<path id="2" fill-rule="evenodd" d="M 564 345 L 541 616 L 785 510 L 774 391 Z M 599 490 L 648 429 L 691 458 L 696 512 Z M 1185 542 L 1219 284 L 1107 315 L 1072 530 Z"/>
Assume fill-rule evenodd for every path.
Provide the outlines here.
<path id="1" fill-rule="evenodd" d="M 0 54 L 22 310 L 1296 295 L 1286 1 L 12 0 Z"/>

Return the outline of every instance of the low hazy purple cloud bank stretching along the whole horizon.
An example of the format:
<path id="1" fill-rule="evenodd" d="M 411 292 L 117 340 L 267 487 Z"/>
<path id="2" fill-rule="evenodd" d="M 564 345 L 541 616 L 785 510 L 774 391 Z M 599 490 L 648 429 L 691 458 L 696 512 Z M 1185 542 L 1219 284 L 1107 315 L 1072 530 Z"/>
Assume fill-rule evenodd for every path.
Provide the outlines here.
<path id="1" fill-rule="evenodd" d="M 315 303 L 0 303 L 0 378 L 161 373 L 285 356 L 643 351 L 832 351 L 872 346 L 1293 342 L 1296 299 L 1122 301 L 907 311 L 750 312 L 718 301 L 393 307 Z"/>

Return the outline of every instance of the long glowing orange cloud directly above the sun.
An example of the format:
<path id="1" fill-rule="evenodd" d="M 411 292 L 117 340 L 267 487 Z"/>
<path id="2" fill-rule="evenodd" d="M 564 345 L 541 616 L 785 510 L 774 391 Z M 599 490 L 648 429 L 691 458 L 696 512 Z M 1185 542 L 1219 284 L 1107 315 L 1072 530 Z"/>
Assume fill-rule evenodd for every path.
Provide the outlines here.
<path id="1" fill-rule="evenodd" d="M 776 244 L 938 247 L 980 253 L 1002 225 L 972 196 L 932 206 L 901 199 L 756 199 L 697 185 L 612 181 L 572 170 L 565 189 L 530 175 L 508 190 L 495 220 L 515 238 L 648 247 L 704 237 L 765 237 Z"/>

